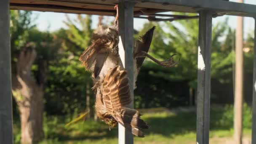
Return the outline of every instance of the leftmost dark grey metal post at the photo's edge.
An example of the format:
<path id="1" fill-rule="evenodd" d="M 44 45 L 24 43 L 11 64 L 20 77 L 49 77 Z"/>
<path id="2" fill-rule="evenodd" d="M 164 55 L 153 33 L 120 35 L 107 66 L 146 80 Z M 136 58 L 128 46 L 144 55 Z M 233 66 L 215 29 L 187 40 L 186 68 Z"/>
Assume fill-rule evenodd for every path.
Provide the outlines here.
<path id="1" fill-rule="evenodd" d="M 9 0 L 0 0 L 0 144 L 13 144 Z"/>

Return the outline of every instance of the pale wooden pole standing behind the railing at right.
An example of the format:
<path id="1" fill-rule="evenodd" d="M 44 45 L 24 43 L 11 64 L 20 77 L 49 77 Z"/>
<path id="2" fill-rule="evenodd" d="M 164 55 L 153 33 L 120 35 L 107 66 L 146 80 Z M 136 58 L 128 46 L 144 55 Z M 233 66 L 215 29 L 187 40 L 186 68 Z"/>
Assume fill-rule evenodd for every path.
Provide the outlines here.
<path id="1" fill-rule="evenodd" d="M 243 3 L 243 0 L 238 0 Z M 234 104 L 234 139 L 235 144 L 242 144 L 243 137 L 243 17 L 237 17 L 235 48 L 235 104 Z"/>

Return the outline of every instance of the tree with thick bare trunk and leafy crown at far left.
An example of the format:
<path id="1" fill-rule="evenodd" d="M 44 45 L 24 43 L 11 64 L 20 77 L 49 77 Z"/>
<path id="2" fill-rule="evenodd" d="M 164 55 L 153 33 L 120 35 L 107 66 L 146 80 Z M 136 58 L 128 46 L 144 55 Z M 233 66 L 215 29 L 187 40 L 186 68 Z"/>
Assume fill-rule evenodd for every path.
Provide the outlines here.
<path id="1" fill-rule="evenodd" d="M 19 107 L 21 143 L 43 139 L 43 96 L 51 35 L 38 31 L 31 12 L 11 11 L 12 92 Z"/>

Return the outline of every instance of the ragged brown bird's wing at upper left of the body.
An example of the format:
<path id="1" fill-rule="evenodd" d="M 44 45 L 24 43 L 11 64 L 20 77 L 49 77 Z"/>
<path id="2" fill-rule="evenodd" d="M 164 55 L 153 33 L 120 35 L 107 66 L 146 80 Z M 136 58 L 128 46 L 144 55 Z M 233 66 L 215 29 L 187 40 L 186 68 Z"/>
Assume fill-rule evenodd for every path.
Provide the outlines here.
<path id="1" fill-rule="evenodd" d="M 93 41 L 93 43 L 88 48 L 86 48 L 86 50 L 79 58 L 79 60 L 82 62 L 82 66 L 85 66 L 86 70 L 92 71 L 92 69 L 94 69 L 93 74 L 95 78 L 101 72 L 103 64 L 107 59 L 108 46 L 108 40 L 99 38 Z"/>

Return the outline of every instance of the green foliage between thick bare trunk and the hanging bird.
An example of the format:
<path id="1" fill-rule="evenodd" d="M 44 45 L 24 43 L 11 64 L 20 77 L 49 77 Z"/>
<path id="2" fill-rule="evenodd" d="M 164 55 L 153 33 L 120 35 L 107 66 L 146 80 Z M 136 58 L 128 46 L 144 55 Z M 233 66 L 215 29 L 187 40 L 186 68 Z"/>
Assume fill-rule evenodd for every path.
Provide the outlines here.
<path id="1" fill-rule="evenodd" d="M 69 115 L 85 110 L 85 91 L 92 87 L 91 74 L 81 67 L 79 57 L 91 43 L 91 16 L 67 16 L 68 29 L 54 32 L 58 55 L 50 61 L 46 88 L 46 111 L 50 115 Z M 91 99 L 92 101 L 94 99 Z M 77 116 L 77 115 L 76 115 Z M 76 117 L 75 116 L 75 117 Z"/>

